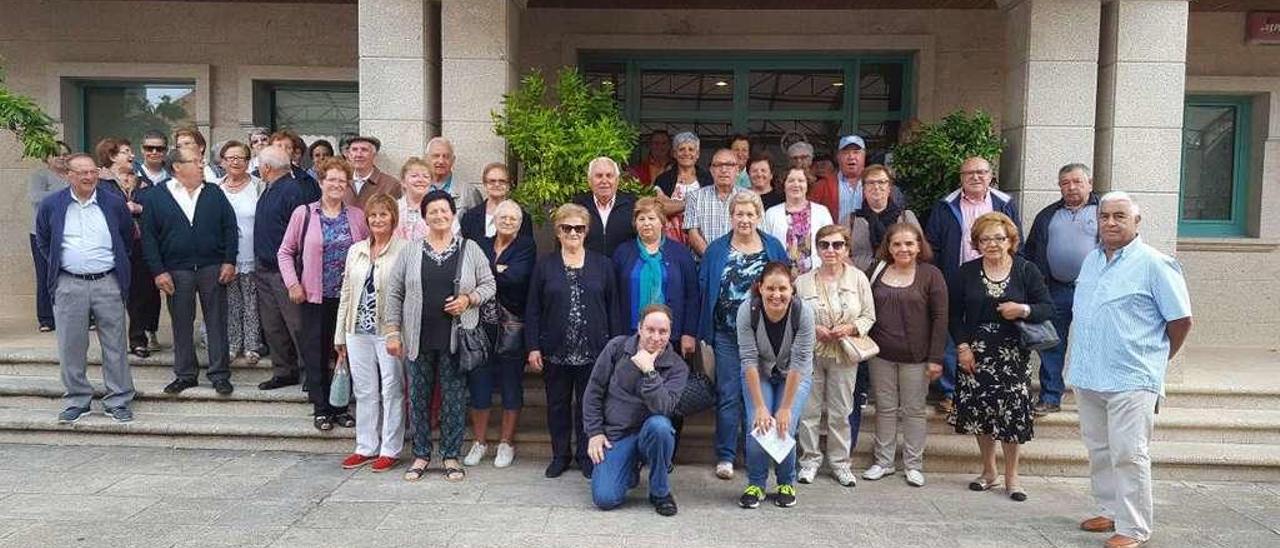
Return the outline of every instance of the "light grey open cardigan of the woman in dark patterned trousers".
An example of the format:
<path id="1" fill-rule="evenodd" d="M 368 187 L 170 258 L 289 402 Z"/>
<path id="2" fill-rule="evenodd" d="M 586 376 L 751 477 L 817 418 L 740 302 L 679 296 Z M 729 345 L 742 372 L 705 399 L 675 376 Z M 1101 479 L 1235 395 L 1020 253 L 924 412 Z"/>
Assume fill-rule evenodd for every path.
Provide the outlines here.
<path id="1" fill-rule="evenodd" d="M 489 269 L 489 259 L 476 242 L 465 241 L 465 246 L 458 252 L 462 254 L 462 273 L 458 279 L 458 293 L 471 297 L 471 307 L 458 318 L 463 329 L 474 329 L 480 324 L 480 305 L 493 298 L 498 291 L 494 282 L 493 270 Z M 417 239 L 401 250 L 396 264 L 392 266 L 390 278 L 387 279 L 387 311 L 385 332 L 401 333 L 401 346 L 404 350 L 406 360 L 417 360 L 417 343 L 422 329 L 422 246 L 425 241 Z M 431 283 L 448 283 L 453 280 L 431 280 Z M 449 352 L 458 351 L 458 333 L 449 334 Z"/>

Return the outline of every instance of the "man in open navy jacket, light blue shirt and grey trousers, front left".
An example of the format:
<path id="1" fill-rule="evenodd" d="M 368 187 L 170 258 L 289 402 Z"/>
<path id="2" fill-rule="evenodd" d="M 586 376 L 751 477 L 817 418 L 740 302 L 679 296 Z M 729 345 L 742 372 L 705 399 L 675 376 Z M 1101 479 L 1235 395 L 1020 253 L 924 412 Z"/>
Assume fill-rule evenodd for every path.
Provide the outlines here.
<path id="1" fill-rule="evenodd" d="M 45 279 L 58 323 L 67 408 L 58 421 L 70 424 L 90 412 L 93 385 L 88 369 L 88 319 L 97 320 L 102 347 L 102 412 L 119 423 L 133 420 L 133 376 L 124 357 L 124 296 L 129 294 L 129 246 L 133 218 L 124 198 L 97 192 L 97 165 L 87 154 L 67 159 L 70 186 L 40 202 L 36 247 L 46 257 Z"/>

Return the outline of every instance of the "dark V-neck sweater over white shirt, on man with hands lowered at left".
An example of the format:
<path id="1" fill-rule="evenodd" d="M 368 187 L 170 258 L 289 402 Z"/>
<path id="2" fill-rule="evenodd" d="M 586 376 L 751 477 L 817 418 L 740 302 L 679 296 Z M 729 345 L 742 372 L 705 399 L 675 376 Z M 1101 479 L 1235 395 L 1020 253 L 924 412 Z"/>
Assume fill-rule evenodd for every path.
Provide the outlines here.
<path id="1" fill-rule="evenodd" d="M 143 196 L 142 256 L 152 274 L 236 264 L 236 210 L 218 184 L 201 184 L 193 222 L 187 220 L 168 184 Z"/>

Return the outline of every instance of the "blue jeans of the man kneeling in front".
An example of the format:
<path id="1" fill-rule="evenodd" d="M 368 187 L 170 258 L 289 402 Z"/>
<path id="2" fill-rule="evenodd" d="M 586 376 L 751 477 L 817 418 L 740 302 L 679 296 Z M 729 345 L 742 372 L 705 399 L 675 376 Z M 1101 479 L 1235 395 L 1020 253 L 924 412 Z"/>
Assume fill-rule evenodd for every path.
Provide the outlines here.
<path id="1" fill-rule="evenodd" d="M 671 494 L 667 467 L 676 452 L 676 428 L 671 419 L 653 415 L 640 431 L 611 442 L 604 460 L 591 472 L 591 502 L 600 510 L 613 510 L 627 499 L 627 490 L 640 483 L 640 465 L 649 466 L 649 497 Z"/>

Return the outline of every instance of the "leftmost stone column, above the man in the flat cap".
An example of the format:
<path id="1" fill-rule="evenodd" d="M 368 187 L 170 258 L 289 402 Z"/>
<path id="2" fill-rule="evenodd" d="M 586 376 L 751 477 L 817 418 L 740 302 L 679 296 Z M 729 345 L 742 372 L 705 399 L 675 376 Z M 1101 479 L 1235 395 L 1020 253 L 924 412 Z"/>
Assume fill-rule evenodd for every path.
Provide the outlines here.
<path id="1" fill-rule="evenodd" d="M 430 0 L 360 3 L 360 132 L 381 140 L 378 165 L 399 174 L 440 131 L 439 20 Z"/>

